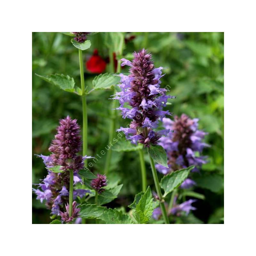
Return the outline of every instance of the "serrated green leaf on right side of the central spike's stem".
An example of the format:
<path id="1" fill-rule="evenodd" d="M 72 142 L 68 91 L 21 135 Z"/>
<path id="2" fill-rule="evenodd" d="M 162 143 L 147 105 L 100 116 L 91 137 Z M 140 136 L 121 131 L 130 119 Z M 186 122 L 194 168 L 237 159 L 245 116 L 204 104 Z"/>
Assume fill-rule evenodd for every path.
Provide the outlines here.
<path id="1" fill-rule="evenodd" d="M 194 169 L 194 166 L 190 166 L 186 169 L 181 169 L 176 172 L 164 176 L 161 180 L 161 188 L 164 189 L 164 197 L 167 196 L 173 189 L 180 186 L 180 184 L 187 179 L 189 172 Z"/>

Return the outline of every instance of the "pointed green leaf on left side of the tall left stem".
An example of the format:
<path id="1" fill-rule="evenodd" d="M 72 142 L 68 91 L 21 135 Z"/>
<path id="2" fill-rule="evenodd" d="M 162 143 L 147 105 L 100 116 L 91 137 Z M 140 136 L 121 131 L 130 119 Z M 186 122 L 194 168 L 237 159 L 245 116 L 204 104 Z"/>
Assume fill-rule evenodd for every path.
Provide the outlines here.
<path id="1" fill-rule="evenodd" d="M 44 81 L 58 86 L 60 89 L 66 91 L 66 92 L 74 92 L 74 86 L 75 86 L 75 81 L 73 77 L 70 76 L 64 76 L 63 74 L 55 74 L 55 75 L 50 75 L 50 76 L 40 76 L 37 75 L 40 78 L 42 78 Z"/>

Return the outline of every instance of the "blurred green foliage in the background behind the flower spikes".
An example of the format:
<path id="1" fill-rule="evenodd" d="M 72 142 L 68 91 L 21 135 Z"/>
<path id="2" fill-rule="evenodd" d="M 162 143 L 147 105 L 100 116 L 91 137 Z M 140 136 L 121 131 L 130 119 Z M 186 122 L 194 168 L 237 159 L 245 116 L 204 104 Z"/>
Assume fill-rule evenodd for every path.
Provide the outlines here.
<path id="1" fill-rule="evenodd" d="M 83 51 L 84 62 L 94 49 L 107 60 L 107 33 L 91 36 L 92 46 Z M 131 37 L 132 36 L 132 37 Z M 135 36 L 135 37 L 134 37 Z M 134 37 L 134 38 L 133 38 Z M 209 163 L 199 174 L 194 175 L 198 186 L 195 191 L 203 194 L 205 200 L 198 200 L 197 210 L 187 218 L 180 217 L 176 223 L 223 223 L 224 205 L 224 33 L 169 33 L 136 32 L 125 33 L 124 57 L 132 58 L 132 52 L 147 48 L 152 54 L 155 66 L 164 67 L 162 85 L 170 85 L 169 94 L 177 96 L 167 105 L 173 115 L 182 113 L 198 117 L 199 128 L 208 132 L 206 142 L 211 148 L 204 150 Z M 82 124 L 82 102 L 78 95 L 58 89 L 35 75 L 64 74 L 75 79 L 80 86 L 78 50 L 71 44 L 70 37 L 61 33 L 36 32 L 32 36 L 32 151 L 33 154 L 49 155 L 48 147 L 55 134 L 58 120 L 67 115 Z M 107 66 L 105 72 L 109 71 Z M 127 72 L 128 69 L 122 69 Z M 85 68 L 85 86 L 92 88 L 95 74 Z M 93 91 L 88 102 L 88 155 L 96 156 L 108 144 L 109 116 L 112 90 Z M 117 115 L 116 128 L 128 124 Z M 33 157 L 32 181 L 40 182 L 47 174 L 41 159 Z M 103 172 L 106 155 L 98 158 L 92 172 Z M 146 158 L 148 185 L 153 187 L 153 178 Z M 109 177 L 120 179 L 124 184 L 118 198 L 111 207 L 123 207 L 133 202 L 140 192 L 140 164 L 138 153 L 112 153 Z M 162 175 L 159 174 L 161 178 Z M 49 223 L 50 211 L 32 198 L 33 223 Z"/>

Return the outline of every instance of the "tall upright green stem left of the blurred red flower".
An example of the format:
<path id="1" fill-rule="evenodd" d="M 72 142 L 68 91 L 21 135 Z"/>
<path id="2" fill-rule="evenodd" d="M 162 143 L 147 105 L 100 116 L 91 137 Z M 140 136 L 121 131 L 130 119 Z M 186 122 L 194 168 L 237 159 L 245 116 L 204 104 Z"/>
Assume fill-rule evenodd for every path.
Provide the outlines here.
<path id="1" fill-rule="evenodd" d="M 84 64 L 83 64 L 83 53 L 82 50 L 78 49 L 79 52 L 79 65 L 80 65 L 80 78 L 81 78 L 81 90 L 82 90 L 82 108 L 83 108 L 83 156 L 87 155 L 87 104 L 84 87 Z M 84 166 L 87 166 L 87 160 L 84 161 Z"/>

